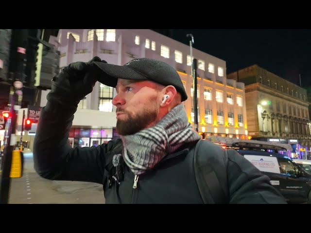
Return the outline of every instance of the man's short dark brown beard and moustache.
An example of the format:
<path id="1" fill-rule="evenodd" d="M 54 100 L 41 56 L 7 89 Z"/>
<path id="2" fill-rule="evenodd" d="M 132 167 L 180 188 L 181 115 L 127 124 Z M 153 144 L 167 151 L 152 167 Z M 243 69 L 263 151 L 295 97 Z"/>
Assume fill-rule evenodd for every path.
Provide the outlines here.
<path id="1" fill-rule="evenodd" d="M 124 112 L 128 118 L 117 120 L 117 132 L 120 135 L 130 135 L 145 129 L 150 123 L 155 121 L 159 110 L 156 107 L 154 109 L 145 109 L 142 113 L 136 113 L 136 116 L 126 111 L 121 112 Z"/>

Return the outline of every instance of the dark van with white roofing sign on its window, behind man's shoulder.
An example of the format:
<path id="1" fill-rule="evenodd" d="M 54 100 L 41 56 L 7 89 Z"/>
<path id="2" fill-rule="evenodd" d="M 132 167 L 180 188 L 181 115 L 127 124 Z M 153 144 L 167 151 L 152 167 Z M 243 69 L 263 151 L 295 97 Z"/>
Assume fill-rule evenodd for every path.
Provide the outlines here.
<path id="1" fill-rule="evenodd" d="M 288 203 L 311 204 L 311 174 L 285 155 L 249 149 L 236 150 L 270 178 Z"/>

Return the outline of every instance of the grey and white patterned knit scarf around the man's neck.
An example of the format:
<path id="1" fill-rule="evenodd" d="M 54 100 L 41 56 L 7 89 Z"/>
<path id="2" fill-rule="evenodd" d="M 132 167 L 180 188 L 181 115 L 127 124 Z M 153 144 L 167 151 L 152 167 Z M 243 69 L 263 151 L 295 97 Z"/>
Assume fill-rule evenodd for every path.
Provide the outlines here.
<path id="1" fill-rule="evenodd" d="M 200 139 L 192 130 L 183 104 L 175 106 L 155 126 L 132 135 L 121 136 L 123 158 L 133 173 L 139 175 L 153 168 L 168 153 L 177 150 L 184 143 Z M 121 154 L 114 155 L 117 166 Z"/>

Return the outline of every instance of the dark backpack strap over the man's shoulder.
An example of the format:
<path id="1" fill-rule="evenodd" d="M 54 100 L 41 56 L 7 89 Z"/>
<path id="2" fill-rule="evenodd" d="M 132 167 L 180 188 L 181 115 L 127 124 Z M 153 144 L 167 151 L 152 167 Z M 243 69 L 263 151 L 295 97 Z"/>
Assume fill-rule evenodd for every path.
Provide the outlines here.
<path id="1" fill-rule="evenodd" d="M 207 140 L 199 140 L 193 155 L 195 179 L 206 203 L 228 203 L 227 151 Z"/>

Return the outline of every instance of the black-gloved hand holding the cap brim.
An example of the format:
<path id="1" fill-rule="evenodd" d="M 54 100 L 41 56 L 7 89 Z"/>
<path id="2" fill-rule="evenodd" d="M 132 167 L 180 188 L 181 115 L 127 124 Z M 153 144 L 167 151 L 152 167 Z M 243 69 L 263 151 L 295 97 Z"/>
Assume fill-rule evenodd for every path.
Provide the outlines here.
<path id="1" fill-rule="evenodd" d="M 50 104 L 76 107 L 80 100 L 91 93 L 101 70 L 92 62 L 104 62 L 94 57 L 89 62 L 74 62 L 52 79 L 52 90 L 47 95 Z M 73 106 L 74 105 L 74 106 Z"/>

